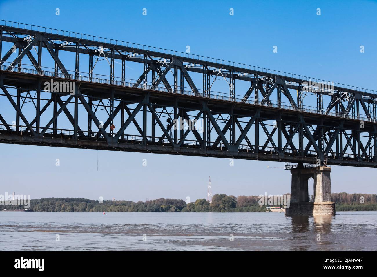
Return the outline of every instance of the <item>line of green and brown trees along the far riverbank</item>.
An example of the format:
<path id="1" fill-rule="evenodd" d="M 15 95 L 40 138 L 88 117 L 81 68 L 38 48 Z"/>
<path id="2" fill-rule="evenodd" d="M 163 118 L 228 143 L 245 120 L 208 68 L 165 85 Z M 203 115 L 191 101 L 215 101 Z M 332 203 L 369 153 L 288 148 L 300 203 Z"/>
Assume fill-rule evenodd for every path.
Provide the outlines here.
<path id="1" fill-rule="evenodd" d="M 337 211 L 377 210 L 377 194 L 332 193 Z M 23 210 L 22 205 L 0 205 L 0 210 Z M 186 203 L 181 199 L 155 199 L 145 202 L 126 200 L 90 200 L 85 198 L 52 197 L 30 200 L 31 211 L 64 212 L 257 212 L 266 211 L 259 205 L 259 196 L 215 194 L 212 202 L 198 199 Z"/>

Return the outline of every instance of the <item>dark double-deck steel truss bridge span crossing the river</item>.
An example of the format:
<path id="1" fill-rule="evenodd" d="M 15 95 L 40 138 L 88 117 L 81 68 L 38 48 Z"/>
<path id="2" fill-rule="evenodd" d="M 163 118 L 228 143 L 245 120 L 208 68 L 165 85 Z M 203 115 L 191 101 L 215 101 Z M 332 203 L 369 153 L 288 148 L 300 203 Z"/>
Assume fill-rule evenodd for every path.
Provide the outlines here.
<path id="1" fill-rule="evenodd" d="M 374 90 L 3 20 L 0 54 L 2 143 L 377 165 Z"/>

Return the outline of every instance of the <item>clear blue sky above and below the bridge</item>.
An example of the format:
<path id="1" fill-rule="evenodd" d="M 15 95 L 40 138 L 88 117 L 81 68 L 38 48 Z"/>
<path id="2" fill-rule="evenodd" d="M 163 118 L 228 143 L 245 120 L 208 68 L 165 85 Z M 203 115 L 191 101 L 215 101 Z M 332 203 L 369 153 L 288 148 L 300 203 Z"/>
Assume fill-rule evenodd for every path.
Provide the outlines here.
<path id="1" fill-rule="evenodd" d="M 182 52 L 189 45 L 192 54 L 369 89 L 375 89 L 377 73 L 376 12 L 375 1 L 0 0 L 3 20 Z M 228 159 L 99 151 L 97 171 L 97 150 L 10 144 L 0 144 L 0 157 L 0 194 L 16 191 L 32 199 L 193 201 L 207 196 L 208 176 L 213 194 L 291 189 L 282 162 L 235 160 L 230 166 Z M 332 191 L 376 193 L 375 176 L 373 168 L 333 166 Z"/>

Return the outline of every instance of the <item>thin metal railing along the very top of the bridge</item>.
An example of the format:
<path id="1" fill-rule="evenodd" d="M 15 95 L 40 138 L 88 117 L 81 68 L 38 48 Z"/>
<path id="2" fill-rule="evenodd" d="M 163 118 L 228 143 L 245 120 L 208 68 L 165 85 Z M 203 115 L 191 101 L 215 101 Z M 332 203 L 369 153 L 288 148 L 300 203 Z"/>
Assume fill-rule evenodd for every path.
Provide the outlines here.
<path id="1" fill-rule="evenodd" d="M 294 79 L 299 79 L 299 80 L 308 81 L 308 82 L 312 81 L 312 82 L 317 82 L 317 83 L 332 83 L 332 82 L 326 81 L 326 80 L 311 78 L 311 77 L 307 77 L 307 76 L 303 76 L 303 75 L 292 74 L 292 73 L 279 71 L 279 70 L 267 69 L 267 68 L 264 68 L 264 67 L 250 66 L 248 64 L 243 64 L 243 63 L 235 63 L 235 62 L 232 62 L 232 61 L 210 58 L 210 57 L 205 57 L 205 56 L 201 56 L 201 55 L 194 55 L 194 54 L 190 54 L 190 53 L 186 53 L 186 52 L 180 52 L 180 51 L 174 51 L 174 50 L 169 50 L 169 49 L 164 49 L 164 48 L 159 48 L 159 47 L 147 46 L 147 45 L 138 44 L 138 43 L 130 43 L 130 42 L 121 41 L 121 40 L 113 40 L 113 39 L 110 39 L 110 38 L 97 37 L 97 36 L 93 36 L 93 35 L 80 34 L 80 33 L 76 33 L 76 32 L 63 31 L 63 30 L 60 30 L 60 29 L 41 27 L 41 26 L 25 24 L 25 23 L 18 23 L 18 22 L 7 21 L 7 20 L 0 20 L 0 27 L 1 27 L 1 25 L 19 28 L 19 29 L 24 29 L 24 30 L 28 30 L 28 31 L 35 31 L 35 32 L 42 32 L 42 33 L 48 33 L 48 34 L 54 34 L 54 35 L 61 35 L 61 36 L 66 37 L 66 38 L 71 37 L 71 38 L 78 38 L 78 39 L 82 39 L 82 40 L 91 40 L 91 41 L 95 41 L 95 42 L 99 42 L 99 43 L 113 44 L 113 45 L 129 47 L 129 48 L 133 48 L 133 49 L 139 49 L 139 50 L 150 51 L 150 52 L 157 52 L 157 53 L 161 53 L 161 54 L 167 54 L 167 55 L 183 57 L 183 58 L 190 58 L 190 59 L 193 59 L 193 60 L 199 60 L 199 61 L 204 61 L 204 62 L 208 62 L 208 63 L 219 64 L 219 66 L 221 66 L 221 65 L 232 66 L 232 67 L 236 67 L 236 68 L 239 68 L 239 69 L 248 69 L 248 70 L 253 70 L 253 71 L 257 71 L 257 72 L 261 72 L 261 73 L 268 73 L 268 74 L 271 74 L 271 75 L 279 75 L 279 76 L 282 76 L 282 77 L 294 78 Z M 370 89 L 364 89 L 364 88 L 361 88 L 361 87 L 348 86 L 348 85 L 340 84 L 340 83 L 334 83 L 334 86 L 341 87 L 343 89 L 356 90 L 356 91 L 360 91 L 360 92 L 372 93 L 372 94 L 377 95 L 377 91 L 370 90 Z"/>

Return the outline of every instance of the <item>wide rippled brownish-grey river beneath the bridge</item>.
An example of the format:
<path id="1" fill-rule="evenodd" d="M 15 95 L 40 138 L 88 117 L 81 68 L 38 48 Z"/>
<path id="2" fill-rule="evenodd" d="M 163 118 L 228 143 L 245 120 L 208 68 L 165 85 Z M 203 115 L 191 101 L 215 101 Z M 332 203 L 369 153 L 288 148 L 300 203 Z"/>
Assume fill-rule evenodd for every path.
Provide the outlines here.
<path id="1" fill-rule="evenodd" d="M 0 212 L 0 251 L 377 250 L 377 211 L 284 213 Z"/>

